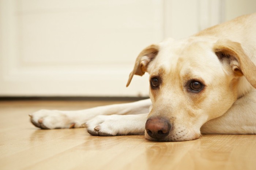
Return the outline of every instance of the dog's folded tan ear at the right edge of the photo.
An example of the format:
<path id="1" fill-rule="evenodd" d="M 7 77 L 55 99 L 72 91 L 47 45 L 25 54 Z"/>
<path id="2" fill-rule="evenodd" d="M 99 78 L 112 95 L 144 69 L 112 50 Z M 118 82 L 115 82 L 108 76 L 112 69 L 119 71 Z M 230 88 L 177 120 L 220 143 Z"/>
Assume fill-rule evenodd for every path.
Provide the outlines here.
<path id="1" fill-rule="evenodd" d="M 219 40 L 214 52 L 221 62 L 230 64 L 235 76 L 244 75 L 248 82 L 256 88 L 256 66 L 245 54 L 240 43 L 230 40 Z"/>

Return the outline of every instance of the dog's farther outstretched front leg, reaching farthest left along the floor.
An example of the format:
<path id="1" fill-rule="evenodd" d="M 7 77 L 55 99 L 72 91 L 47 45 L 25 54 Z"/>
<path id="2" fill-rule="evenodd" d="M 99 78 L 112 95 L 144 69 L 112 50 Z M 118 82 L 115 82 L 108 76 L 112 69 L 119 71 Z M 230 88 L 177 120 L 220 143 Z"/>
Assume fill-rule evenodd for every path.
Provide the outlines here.
<path id="1" fill-rule="evenodd" d="M 126 115 L 148 113 L 150 99 L 138 102 L 112 104 L 78 111 L 39 110 L 30 114 L 30 121 L 41 129 L 77 128 L 98 115 Z"/>

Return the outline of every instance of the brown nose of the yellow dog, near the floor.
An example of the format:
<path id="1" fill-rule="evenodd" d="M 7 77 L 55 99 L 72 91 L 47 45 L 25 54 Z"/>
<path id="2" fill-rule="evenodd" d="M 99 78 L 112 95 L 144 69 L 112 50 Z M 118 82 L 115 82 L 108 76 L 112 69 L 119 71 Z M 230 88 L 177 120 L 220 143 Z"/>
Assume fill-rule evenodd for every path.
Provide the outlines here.
<path id="1" fill-rule="evenodd" d="M 169 134 L 171 124 L 165 118 L 149 118 L 147 119 L 145 129 L 151 138 L 163 139 Z"/>

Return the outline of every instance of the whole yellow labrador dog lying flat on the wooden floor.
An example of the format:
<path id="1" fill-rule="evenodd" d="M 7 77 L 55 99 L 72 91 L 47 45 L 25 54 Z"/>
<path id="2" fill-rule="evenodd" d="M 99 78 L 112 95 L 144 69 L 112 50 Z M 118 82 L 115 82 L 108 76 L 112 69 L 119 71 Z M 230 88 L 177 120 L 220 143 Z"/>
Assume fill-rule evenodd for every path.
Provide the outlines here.
<path id="1" fill-rule="evenodd" d="M 145 134 L 187 141 L 204 134 L 256 134 L 256 14 L 182 40 L 145 48 L 129 76 L 150 74 L 150 99 L 79 111 L 40 110 L 41 129 L 87 127 L 91 135 Z M 86 122 L 86 123 L 84 123 Z"/>

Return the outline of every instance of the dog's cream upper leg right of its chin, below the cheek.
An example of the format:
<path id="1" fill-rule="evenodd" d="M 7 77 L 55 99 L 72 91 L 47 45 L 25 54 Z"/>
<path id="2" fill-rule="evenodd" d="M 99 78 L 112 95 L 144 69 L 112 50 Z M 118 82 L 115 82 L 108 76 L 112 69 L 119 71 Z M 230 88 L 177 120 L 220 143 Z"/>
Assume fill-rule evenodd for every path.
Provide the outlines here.
<path id="1" fill-rule="evenodd" d="M 256 90 L 233 104 L 221 117 L 201 127 L 204 134 L 256 134 Z"/>

